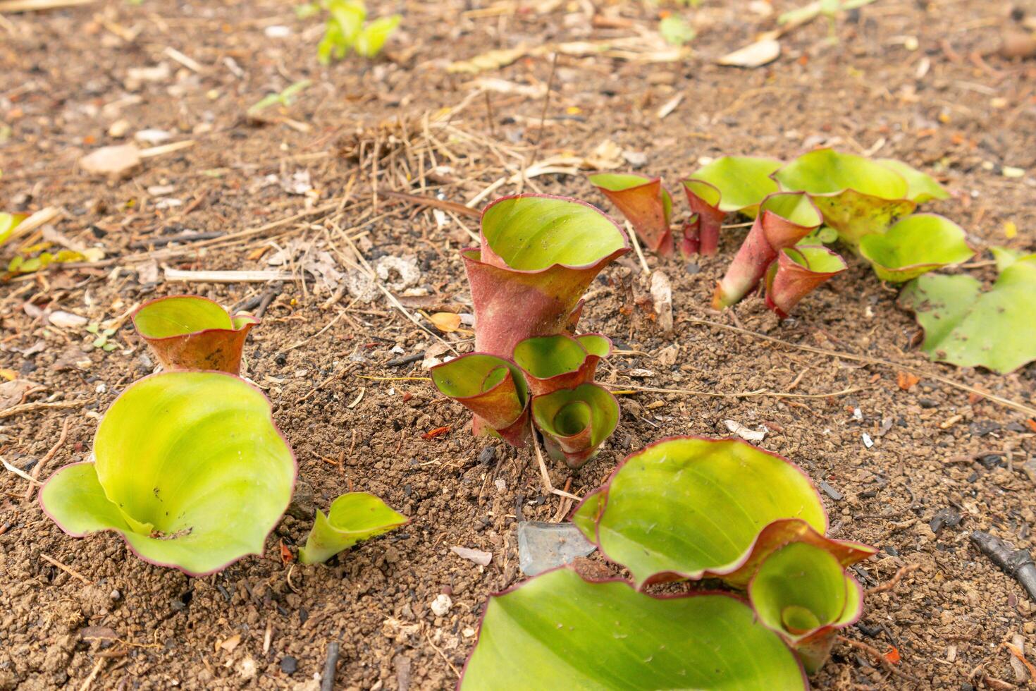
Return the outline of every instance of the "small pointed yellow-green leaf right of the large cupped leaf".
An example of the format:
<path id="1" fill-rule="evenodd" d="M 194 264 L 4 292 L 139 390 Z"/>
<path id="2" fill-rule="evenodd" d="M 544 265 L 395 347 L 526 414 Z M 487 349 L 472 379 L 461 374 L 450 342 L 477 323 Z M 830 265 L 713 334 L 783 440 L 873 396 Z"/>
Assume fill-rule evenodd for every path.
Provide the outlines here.
<path id="1" fill-rule="evenodd" d="M 325 516 L 317 510 L 306 546 L 298 549 L 303 564 L 326 562 L 362 540 L 398 528 L 406 516 L 367 492 L 348 492 L 335 499 Z"/>

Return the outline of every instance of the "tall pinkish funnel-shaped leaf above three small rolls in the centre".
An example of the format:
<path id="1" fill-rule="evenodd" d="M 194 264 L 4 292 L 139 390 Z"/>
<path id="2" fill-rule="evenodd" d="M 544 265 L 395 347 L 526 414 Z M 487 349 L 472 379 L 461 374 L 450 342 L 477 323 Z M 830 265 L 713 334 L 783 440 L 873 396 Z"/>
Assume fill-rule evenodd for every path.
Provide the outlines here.
<path id="1" fill-rule="evenodd" d="M 474 306 L 476 350 L 510 357 L 519 341 L 570 333 L 582 293 L 630 251 L 599 209 L 545 195 L 503 197 L 482 213 L 482 247 L 461 252 Z"/>

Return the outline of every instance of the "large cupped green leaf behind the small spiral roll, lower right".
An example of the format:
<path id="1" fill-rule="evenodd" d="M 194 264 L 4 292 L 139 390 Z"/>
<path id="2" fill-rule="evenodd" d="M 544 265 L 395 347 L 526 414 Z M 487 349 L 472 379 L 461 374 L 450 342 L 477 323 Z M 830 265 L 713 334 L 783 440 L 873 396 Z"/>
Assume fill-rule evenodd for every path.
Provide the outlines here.
<path id="1" fill-rule="evenodd" d="M 740 440 L 658 441 L 627 457 L 592 496 L 573 522 L 639 586 L 735 574 L 776 520 L 827 529 L 806 474 Z"/>

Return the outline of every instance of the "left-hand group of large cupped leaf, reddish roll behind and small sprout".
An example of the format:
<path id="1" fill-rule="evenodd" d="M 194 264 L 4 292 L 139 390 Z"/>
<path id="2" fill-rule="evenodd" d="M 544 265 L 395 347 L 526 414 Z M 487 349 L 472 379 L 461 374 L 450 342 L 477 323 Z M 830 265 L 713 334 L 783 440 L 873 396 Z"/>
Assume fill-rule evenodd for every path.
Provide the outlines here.
<path id="1" fill-rule="evenodd" d="M 166 371 L 112 403 L 92 460 L 61 468 L 40 489 L 44 512 L 73 537 L 113 530 L 141 558 L 194 576 L 262 554 L 297 466 L 269 401 L 236 376 L 259 320 L 197 295 L 151 300 L 133 318 Z M 95 332 L 98 341 L 110 330 Z M 351 492 L 329 515 L 317 511 L 299 555 L 323 562 L 405 522 L 377 497 Z"/>

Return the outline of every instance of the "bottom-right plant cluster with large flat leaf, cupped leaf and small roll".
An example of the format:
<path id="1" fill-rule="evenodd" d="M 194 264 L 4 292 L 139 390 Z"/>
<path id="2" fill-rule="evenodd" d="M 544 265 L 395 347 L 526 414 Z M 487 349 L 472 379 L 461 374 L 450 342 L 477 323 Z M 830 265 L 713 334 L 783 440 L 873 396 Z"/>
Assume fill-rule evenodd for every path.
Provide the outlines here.
<path id="1" fill-rule="evenodd" d="M 564 678 L 595 688 L 805 689 L 804 672 L 823 666 L 836 632 L 860 616 L 863 592 L 846 567 L 875 551 L 826 537 L 806 474 L 740 440 L 651 444 L 572 520 L 633 582 L 563 568 L 494 595 L 461 688 Z M 731 591 L 643 593 L 702 578 Z M 523 664 L 542 649 L 554 655 Z"/>

